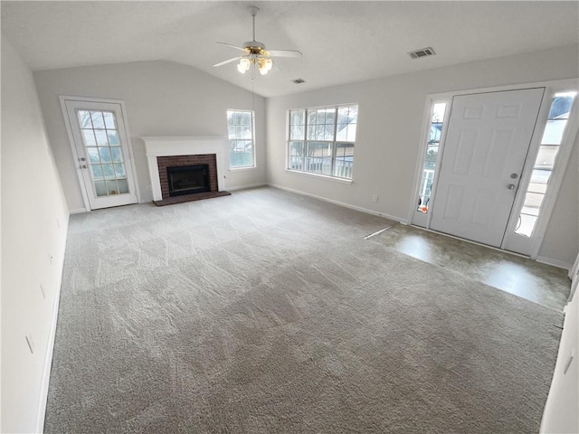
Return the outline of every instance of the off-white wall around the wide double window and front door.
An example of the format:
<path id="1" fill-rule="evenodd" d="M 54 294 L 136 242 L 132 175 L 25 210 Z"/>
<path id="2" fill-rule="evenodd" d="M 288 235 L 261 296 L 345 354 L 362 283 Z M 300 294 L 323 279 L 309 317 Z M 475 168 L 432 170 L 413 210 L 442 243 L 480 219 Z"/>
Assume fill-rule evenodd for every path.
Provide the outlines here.
<path id="1" fill-rule="evenodd" d="M 405 221 L 428 94 L 576 78 L 578 51 L 573 45 L 268 99 L 268 182 Z M 287 110 L 350 102 L 359 103 L 354 183 L 285 171 Z M 539 252 L 557 262 L 573 263 L 578 250 L 577 237 L 569 237 L 579 224 L 573 212 L 576 194 L 571 194 L 576 172 L 574 159 L 547 228 L 546 250 Z M 372 202 L 374 194 L 378 203 Z"/>

